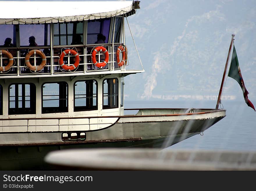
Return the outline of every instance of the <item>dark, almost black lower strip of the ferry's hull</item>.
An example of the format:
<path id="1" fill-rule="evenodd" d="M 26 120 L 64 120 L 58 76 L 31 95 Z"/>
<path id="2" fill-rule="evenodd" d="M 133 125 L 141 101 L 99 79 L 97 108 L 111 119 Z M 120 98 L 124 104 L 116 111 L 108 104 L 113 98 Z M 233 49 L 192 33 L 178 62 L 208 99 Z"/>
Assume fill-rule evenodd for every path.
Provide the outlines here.
<path id="1" fill-rule="evenodd" d="M 180 142 L 181 137 L 184 140 L 196 134 L 198 133 L 188 133 L 186 136 L 176 135 L 172 144 Z M 44 161 L 45 156 L 50 151 L 81 148 L 163 148 L 167 139 L 166 136 L 163 136 L 148 139 L 106 140 L 97 143 L 1 146 L 0 170 L 54 170 L 54 166 Z"/>

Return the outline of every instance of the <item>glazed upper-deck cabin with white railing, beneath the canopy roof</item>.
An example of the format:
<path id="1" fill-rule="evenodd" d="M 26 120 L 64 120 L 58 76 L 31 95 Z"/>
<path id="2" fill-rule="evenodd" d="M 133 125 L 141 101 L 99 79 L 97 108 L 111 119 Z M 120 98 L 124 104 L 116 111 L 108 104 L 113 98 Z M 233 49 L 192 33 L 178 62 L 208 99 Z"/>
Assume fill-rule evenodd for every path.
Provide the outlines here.
<path id="1" fill-rule="evenodd" d="M 120 15 L 57 23 L 0 24 L 0 75 L 6 78 L 35 76 L 35 74 L 38 76 L 72 72 L 73 75 L 74 73 L 124 70 L 125 65 L 119 67 L 115 55 L 120 44 L 125 44 L 124 18 L 124 15 Z M 104 47 L 109 54 L 109 60 L 104 67 L 97 67 L 92 63 L 92 51 L 99 45 Z M 65 69 L 59 64 L 60 56 L 66 49 L 74 50 L 78 53 L 78 57 L 72 54 L 65 55 L 62 58 L 63 63 L 71 66 L 79 60 L 76 68 Z M 26 58 L 31 50 L 31 55 Z M 42 52 L 45 58 L 34 53 L 34 50 Z M 10 60 L 6 51 L 13 57 L 13 60 Z M 96 60 L 102 62 L 104 59 L 103 52 L 97 53 Z M 8 67 L 10 61 L 12 64 Z M 35 69 L 43 62 L 45 62 L 44 67 Z"/>

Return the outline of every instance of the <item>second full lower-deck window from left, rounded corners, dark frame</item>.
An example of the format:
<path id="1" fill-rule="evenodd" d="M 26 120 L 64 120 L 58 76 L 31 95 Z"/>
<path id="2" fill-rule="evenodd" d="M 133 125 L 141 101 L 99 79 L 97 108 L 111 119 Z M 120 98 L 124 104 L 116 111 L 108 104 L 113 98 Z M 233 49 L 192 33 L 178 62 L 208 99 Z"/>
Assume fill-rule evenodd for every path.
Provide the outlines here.
<path id="1" fill-rule="evenodd" d="M 66 82 L 44 83 L 42 85 L 42 113 L 67 112 L 67 94 Z"/>

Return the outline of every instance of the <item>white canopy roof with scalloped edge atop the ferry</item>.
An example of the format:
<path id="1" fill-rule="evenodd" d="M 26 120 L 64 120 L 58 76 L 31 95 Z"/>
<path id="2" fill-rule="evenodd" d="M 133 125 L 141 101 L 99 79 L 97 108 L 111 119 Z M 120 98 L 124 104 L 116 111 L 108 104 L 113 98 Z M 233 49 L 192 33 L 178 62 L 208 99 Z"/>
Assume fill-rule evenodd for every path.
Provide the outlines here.
<path id="1" fill-rule="evenodd" d="M 133 1 L 0 1 L 0 6 L 0 24 L 31 24 L 122 15 L 133 9 Z"/>

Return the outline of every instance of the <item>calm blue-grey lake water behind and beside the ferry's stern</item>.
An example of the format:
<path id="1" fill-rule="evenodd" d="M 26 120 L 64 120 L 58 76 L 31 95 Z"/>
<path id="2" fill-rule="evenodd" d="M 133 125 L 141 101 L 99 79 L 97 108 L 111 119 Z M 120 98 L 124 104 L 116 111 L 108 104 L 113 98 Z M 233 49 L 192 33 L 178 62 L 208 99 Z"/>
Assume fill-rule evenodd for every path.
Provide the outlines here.
<path id="1" fill-rule="evenodd" d="M 251 100 L 256 106 L 256 101 Z M 226 117 L 167 149 L 256 150 L 256 112 L 242 101 L 222 101 Z M 125 101 L 125 108 L 215 108 L 216 101 Z"/>

